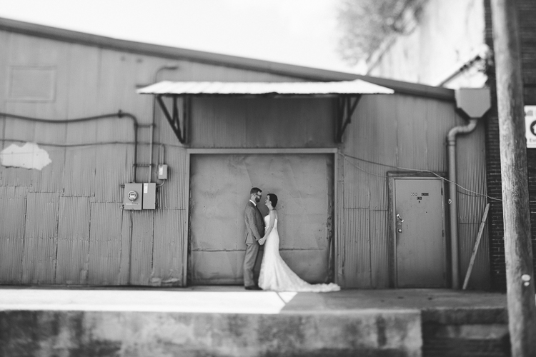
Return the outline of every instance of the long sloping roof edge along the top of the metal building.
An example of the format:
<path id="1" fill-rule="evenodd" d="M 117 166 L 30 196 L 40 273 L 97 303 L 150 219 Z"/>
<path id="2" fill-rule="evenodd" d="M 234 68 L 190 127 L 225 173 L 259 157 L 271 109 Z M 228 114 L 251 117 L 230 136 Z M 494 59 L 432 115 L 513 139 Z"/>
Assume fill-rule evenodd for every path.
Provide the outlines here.
<path id="1" fill-rule="evenodd" d="M 237 69 L 247 69 L 252 71 L 262 71 L 270 74 L 292 76 L 312 81 L 350 81 L 353 79 L 362 79 L 363 81 L 367 81 L 372 84 L 378 84 L 379 86 L 385 86 L 393 89 L 395 93 L 399 94 L 409 94 L 446 101 L 455 101 L 454 91 L 452 89 L 442 87 L 427 86 L 425 84 L 413 84 L 405 81 L 396 81 L 392 79 L 383 79 L 360 74 L 331 71 L 328 69 L 315 69 L 312 67 L 283 64 L 279 62 L 264 61 L 261 59 L 249 59 L 246 57 L 231 56 L 227 54 L 215 54 L 212 52 L 181 49 L 172 46 L 114 39 L 106 36 L 87 34 L 84 32 L 67 29 L 59 29 L 57 27 L 32 24 L 29 22 L 6 19 L 2 17 L 0 17 L 0 30 L 53 39 L 57 41 L 66 41 L 105 49 L 126 51 L 135 54 L 159 56 L 186 61 L 197 61 L 205 64 L 229 66 Z"/>

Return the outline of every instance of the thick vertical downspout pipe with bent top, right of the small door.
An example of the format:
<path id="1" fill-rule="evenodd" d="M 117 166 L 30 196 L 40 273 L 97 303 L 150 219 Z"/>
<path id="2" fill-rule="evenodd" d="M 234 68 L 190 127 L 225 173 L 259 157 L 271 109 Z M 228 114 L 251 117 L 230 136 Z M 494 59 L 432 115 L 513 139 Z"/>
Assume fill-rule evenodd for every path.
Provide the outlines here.
<path id="1" fill-rule="evenodd" d="M 470 119 L 465 126 L 455 126 L 447 135 L 449 161 L 449 195 L 450 195 L 450 252 L 452 264 L 452 288 L 460 288 L 460 260 L 458 251 L 458 206 L 456 189 L 456 136 L 469 134 L 477 127 L 478 119 Z"/>

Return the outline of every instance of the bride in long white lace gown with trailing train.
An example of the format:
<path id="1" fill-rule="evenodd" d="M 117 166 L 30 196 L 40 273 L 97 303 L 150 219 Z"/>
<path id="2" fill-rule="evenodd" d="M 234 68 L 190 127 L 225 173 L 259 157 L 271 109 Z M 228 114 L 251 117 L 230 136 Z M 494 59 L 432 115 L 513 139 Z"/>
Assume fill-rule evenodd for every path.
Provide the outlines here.
<path id="1" fill-rule="evenodd" d="M 279 255 L 279 233 L 277 233 L 277 196 L 268 193 L 264 204 L 269 209 L 269 214 L 264 217 L 266 228 L 264 237 L 259 243 L 264 244 L 264 256 L 262 256 L 261 273 L 259 275 L 259 287 L 262 290 L 272 291 L 309 291 L 328 292 L 339 291 L 341 288 L 335 283 L 309 284 L 303 281 Z"/>

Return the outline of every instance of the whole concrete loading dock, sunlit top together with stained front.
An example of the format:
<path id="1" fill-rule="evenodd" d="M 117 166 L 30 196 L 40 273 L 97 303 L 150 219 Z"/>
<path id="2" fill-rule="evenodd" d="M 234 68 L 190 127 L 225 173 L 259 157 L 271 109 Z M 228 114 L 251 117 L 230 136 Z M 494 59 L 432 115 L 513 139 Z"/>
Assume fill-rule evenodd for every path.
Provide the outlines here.
<path id="1" fill-rule="evenodd" d="M 482 291 L 0 286 L 1 356 L 444 356 L 506 321 Z"/>

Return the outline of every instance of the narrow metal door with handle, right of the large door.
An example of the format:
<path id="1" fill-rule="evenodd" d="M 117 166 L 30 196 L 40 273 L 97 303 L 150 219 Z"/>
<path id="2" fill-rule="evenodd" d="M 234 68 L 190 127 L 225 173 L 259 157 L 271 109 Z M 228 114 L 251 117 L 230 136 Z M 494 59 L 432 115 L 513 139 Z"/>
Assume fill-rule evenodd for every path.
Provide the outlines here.
<path id="1" fill-rule="evenodd" d="M 446 286 L 444 217 L 440 178 L 394 178 L 397 287 Z"/>

